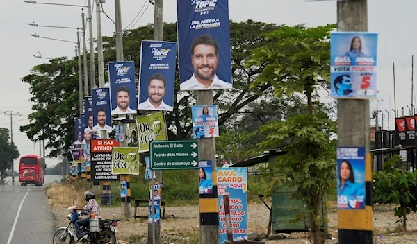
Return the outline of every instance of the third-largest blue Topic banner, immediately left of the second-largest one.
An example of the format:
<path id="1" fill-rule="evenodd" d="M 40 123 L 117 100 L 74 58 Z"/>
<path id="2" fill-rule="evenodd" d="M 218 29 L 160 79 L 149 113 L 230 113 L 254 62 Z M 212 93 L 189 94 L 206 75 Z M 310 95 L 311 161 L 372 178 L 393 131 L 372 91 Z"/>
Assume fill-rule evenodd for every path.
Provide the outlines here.
<path id="1" fill-rule="evenodd" d="M 135 62 L 109 62 L 111 115 L 136 114 Z"/>

